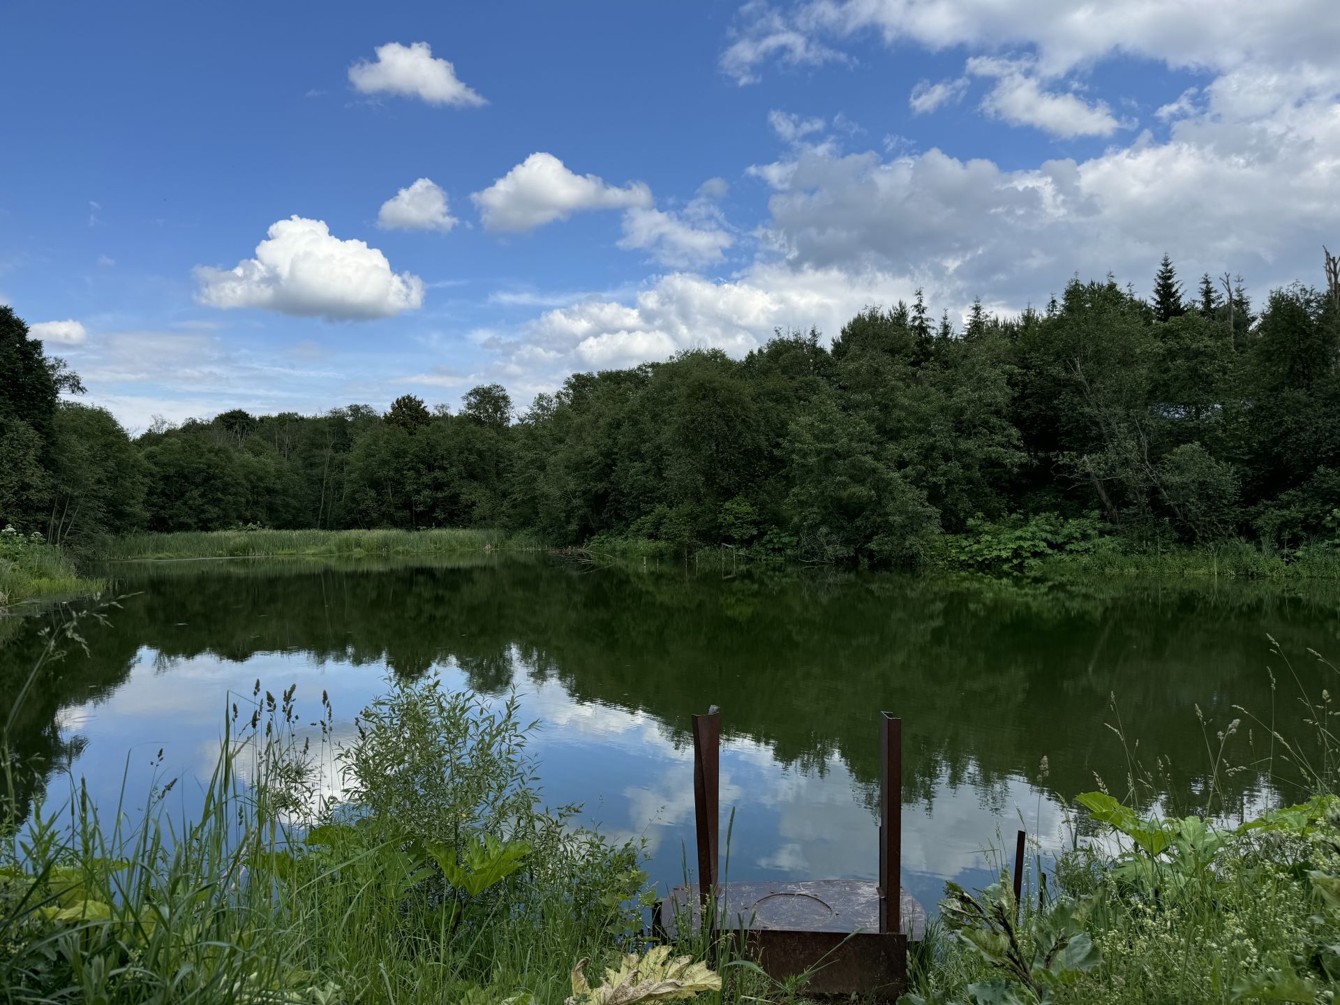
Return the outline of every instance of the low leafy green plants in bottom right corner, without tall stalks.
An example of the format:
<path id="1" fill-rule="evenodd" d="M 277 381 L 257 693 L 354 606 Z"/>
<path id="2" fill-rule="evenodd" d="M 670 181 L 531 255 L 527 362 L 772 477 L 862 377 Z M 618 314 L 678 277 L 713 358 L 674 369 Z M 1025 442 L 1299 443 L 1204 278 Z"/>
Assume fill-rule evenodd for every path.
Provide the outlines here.
<path id="1" fill-rule="evenodd" d="M 1233 829 L 1147 819 L 1106 793 L 1077 800 L 1100 842 L 1063 854 L 1051 896 L 1016 904 L 1005 878 L 947 884 L 931 965 L 904 1001 L 1124 1004 L 1328 1001 L 1340 977 L 1336 797 Z M 1108 851 L 1103 833 L 1130 839 Z"/>

